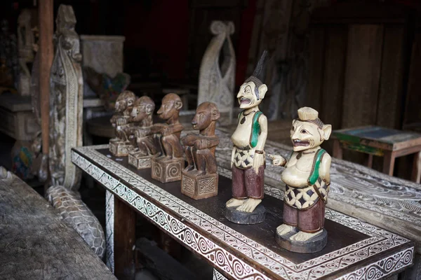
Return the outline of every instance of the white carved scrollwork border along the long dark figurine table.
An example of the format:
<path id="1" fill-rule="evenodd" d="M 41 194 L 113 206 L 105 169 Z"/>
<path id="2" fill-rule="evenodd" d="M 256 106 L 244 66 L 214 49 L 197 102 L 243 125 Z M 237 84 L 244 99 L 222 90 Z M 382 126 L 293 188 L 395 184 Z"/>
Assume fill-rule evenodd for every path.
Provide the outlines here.
<path id="1" fill-rule="evenodd" d="M 107 146 L 104 147 L 106 148 Z M 95 148 L 100 147 L 97 146 Z M 125 169 L 119 163 L 93 150 L 93 148 L 81 147 L 76 150 L 82 154 L 72 153 L 73 162 L 77 166 L 93 176 L 94 179 L 100 181 L 105 188 L 121 197 L 122 200 L 126 200 L 126 202 L 133 205 L 133 207 L 149 217 L 149 219 L 163 228 L 163 230 L 166 230 L 169 234 L 186 244 L 186 246 L 203 255 L 204 258 L 208 258 L 221 272 L 234 278 L 268 279 L 268 276 L 261 274 L 243 261 L 253 260 L 257 262 L 258 266 L 270 269 L 272 273 L 276 273 L 285 279 L 319 279 L 322 276 L 346 269 L 349 265 L 366 260 L 366 258 L 373 255 L 409 242 L 408 239 L 394 235 L 392 232 L 387 232 L 368 223 L 363 223 L 355 218 L 328 209 L 326 211 L 326 218 L 363 232 L 370 237 L 338 251 L 327 253 L 319 258 L 314 258 L 297 265 L 256 243 L 252 239 L 239 234 L 239 232 L 232 230 L 228 226 L 223 225 L 189 204 L 182 202 L 165 190 L 156 187 L 153 183 L 149 183 L 149 181 Z M 95 165 L 92 165 L 86 158 L 95 162 Z M 108 170 L 109 173 L 102 169 Z M 229 174 L 229 171 L 226 170 L 225 174 Z M 114 176 L 119 179 L 117 180 Z M 156 200 L 171 211 L 175 211 L 175 213 L 184 219 L 202 228 L 210 234 L 210 239 L 204 237 L 196 230 L 188 228 L 187 225 L 180 222 L 177 218 L 173 218 L 171 214 L 163 211 L 152 202 L 149 202 L 149 200 L 145 200 L 141 195 L 138 195 L 138 193 L 124 185 L 124 182 L 130 184 L 131 188 L 136 188 L 138 192 L 151 197 L 153 201 Z M 270 190 L 269 186 L 267 186 L 267 190 L 269 192 L 267 191 L 266 193 L 276 194 L 278 192 L 276 189 Z M 213 240 L 217 240 L 218 242 L 215 243 Z M 235 253 L 230 253 L 217 244 L 226 244 Z M 413 249 L 411 247 L 408 250 L 413 253 Z M 239 257 L 241 256 L 241 258 L 237 257 L 237 255 Z M 399 258 L 399 256 L 396 258 Z M 396 267 L 396 269 L 386 269 L 386 262 L 382 262 L 382 264 L 379 262 L 373 265 L 384 269 L 386 272 L 385 275 L 387 275 L 401 267 L 410 265 L 412 258 L 407 258 L 403 254 L 401 255 L 401 260 L 398 261 L 402 264 L 399 265 L 399 268 Z M 363 274 L 363 272 L 359 271 L 356 271 L 356 273 Z M 359 277 L 356 279 L 359 279 Z M 375 277 L 373 279 L 377 278 Z"/>

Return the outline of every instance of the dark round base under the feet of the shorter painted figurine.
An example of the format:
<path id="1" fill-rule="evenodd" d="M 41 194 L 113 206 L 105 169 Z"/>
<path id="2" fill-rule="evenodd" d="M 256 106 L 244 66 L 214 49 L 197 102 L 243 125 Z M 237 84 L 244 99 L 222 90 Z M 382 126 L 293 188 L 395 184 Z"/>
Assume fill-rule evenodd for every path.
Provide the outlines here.
<path id="1" fill-rule="evenodd" d="M 293 241 L 291 236 L 295 235 L 295 231 L 289 232 L 286 235 L 278 235 L 275 233 L 276 243 L 282 248 L 297 253 L 316 253 L 321 251 L 328 242 L 328 232 L 323 229 L 320 235 L 316 235 L 307 241 Z"/>

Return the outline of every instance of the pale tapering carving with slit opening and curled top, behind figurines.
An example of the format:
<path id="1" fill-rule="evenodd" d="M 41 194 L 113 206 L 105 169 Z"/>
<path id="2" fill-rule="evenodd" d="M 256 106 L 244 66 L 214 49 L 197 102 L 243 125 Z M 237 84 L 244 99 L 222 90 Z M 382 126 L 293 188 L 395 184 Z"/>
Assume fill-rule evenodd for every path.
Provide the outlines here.
<path id="1" fill-rule="evenodd" d="M 213 21 L 210 31 L 215 36 L 201 61 L 197 104 L 213 102 L 221 113 L 229 113 L 229 120 L 232 120 L 236 59 L 229 36 L 234 34 L 234 23 Z"/>

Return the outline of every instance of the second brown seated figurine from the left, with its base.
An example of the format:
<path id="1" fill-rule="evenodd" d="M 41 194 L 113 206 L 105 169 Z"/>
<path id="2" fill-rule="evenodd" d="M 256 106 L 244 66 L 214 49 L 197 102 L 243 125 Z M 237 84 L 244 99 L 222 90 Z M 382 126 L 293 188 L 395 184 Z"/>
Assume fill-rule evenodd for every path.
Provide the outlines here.
<path id="1" fill-rule="evenodd" d="M 128 164 L 137 169 L 151 167 L 151 158 L 158 153 L 155 137 L 152 130 L 152 114 L 155 110 L 155 103 L 149 97 L 136 99 L 131 112 L 133 123 L 129 139 L 135 147 L 128 153 Z"/>

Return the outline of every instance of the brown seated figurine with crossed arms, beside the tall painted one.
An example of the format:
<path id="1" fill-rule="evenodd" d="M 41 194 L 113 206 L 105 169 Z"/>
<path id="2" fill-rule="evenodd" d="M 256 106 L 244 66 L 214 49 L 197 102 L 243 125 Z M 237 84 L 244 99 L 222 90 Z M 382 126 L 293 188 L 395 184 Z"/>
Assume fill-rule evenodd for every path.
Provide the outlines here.
<path id="1" fill-rule="evenodd" d="M 214 103 L 203 102 L 196 109 L 192 120 L 199 134 L 188 134 L 182 138 L 185 146 L 187 167 L 181 174 L 181 193 L 194 200 L 218 195 L 218 174 L 215 148 L 219 139 L 215 136 L 216 121 L 220 112 Z"/>

